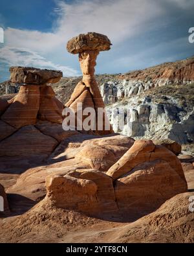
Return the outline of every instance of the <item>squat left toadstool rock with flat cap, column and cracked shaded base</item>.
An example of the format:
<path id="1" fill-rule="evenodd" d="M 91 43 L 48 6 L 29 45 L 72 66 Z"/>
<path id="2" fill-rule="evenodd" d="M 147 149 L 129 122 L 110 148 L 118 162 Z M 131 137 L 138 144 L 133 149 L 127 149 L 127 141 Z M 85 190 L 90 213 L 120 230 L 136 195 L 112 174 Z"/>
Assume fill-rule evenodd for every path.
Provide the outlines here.
<path id="1" fill-rule="evenodd" d="M 61 140 L 76 131 L 62 128 L 65 108 L 47 83 L 58 82 L 61 71 L 10 67 L 10 80 L 20 84 L 12 99 L 0 101 L 0 156 L 48 156 Z"/>

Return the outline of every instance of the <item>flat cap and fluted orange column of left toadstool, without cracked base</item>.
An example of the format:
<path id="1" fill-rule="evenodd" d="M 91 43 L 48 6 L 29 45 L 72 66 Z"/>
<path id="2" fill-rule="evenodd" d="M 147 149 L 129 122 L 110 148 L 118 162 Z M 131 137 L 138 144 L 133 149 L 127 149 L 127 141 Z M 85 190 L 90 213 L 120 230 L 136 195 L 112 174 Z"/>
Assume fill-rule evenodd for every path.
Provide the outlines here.
<path id="1" fill-rule="evenodd" d="M 63 76 L 61 71 L 10 67 L 10 80 L 21 84 L 19 93 L 8 100 L 1 120 L 14 128 L 36 124 L 37 119 L 62 123 L 63 104 L 56 99 L 51 86 Z"/>

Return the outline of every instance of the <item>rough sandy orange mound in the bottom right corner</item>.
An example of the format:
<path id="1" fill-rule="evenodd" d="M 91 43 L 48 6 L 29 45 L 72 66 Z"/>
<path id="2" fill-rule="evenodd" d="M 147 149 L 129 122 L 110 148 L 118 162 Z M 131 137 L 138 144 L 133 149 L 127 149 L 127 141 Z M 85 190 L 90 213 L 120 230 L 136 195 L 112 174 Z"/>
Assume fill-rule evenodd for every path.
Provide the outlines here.
<path id="1" fill-rule="evenodd" d="M 108 242 L 193 243 L 193 213 L 188 211 L 189 197 L 193 192 L 177 194 L 159 209 L 136 222 L 110 231 Z"/>

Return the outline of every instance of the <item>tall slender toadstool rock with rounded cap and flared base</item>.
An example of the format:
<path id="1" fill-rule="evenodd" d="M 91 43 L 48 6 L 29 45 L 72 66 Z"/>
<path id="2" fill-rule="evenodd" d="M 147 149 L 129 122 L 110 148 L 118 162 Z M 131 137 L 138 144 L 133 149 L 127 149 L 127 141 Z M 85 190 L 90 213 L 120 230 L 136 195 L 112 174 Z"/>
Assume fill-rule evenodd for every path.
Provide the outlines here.
<path id="1" fill-rule="evenodd" d="M 111 134 L 113 133 L 113 129 L 107 120 L 106 113 L 103 115 L 102 120 L 100 118 L 98 119 L 98 110 L 100 108 L 105 109 L 105 105 L 103 104 L 102 96 L 94 77 L 94 67 L 99 52 L 108 51 L 109 49 L 111 49 L 111 41 L 107 36 L 95 32 L 80 34 L 67 43 L 67 51 L 72 54 L 79 54 L 83 79 L 78 83 L 70 100 L 65 105 L 75 112 L 77 111 L 78 103 L 83 104 L 83 110 L 87 107 L 93 108 L 96 112 L 94 132 L 100 135 Z M 85 118 L 83 116 L 82 119 Z M 98 122 L 101 122 L 102 129 L 98 127 Z M 105 128 L 105 124 L 109 128 Z"/>

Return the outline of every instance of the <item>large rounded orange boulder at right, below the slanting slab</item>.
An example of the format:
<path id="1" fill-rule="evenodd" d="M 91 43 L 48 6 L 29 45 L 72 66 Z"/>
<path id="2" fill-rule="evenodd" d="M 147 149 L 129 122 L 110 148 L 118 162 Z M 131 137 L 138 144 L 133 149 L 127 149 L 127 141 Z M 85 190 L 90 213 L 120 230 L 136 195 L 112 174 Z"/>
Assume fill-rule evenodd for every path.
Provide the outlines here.
<path id="1" fill-rule="evenodd" d="M 147 161 L 116 180 L 115 196 L 121 211 L 144 215 L 176 194 L 186 183 L 164 160 Z"/>

